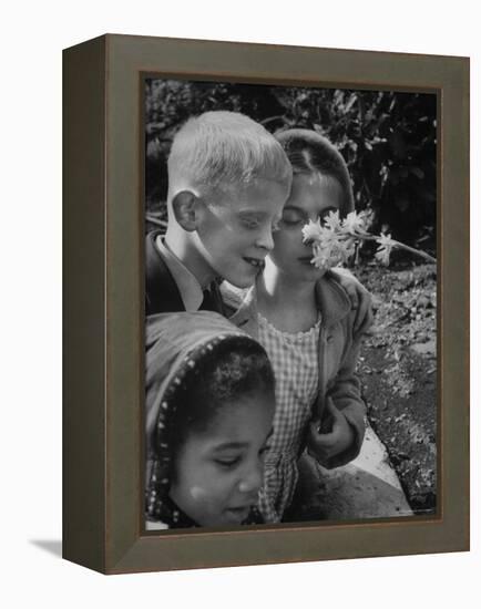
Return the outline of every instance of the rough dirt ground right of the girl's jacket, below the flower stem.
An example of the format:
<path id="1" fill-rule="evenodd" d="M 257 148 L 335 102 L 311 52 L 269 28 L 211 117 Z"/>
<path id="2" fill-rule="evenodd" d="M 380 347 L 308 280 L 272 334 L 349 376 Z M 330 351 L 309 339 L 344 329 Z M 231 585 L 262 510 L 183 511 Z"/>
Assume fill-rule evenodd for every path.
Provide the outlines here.
<path id="1" fill-rule="evenodd" d="M 368 417 L 416 514 L 436 510 L 436 267 L 367 266 L 375 327 L 359 364 Z"/>

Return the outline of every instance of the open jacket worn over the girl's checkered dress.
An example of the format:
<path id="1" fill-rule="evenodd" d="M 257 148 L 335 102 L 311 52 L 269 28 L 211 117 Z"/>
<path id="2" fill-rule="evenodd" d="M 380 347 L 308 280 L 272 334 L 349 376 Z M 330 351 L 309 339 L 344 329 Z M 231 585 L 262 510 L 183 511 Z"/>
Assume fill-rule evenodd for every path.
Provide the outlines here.
<path id="1" fill-rule="evenodd" d="M 345 276 L 342 281 L 346 282 Z M 258 339 L 256 287 L 239 290 L 224 282 L 221 290 L 229 321 Z M 326 395 L 329 395 L 355 432 L 355 440 L 346 451 L 330 458 L 318 458 L 324 467 L 332 468 L 352 461 L 362 445 L 366 404 L 361 398 L 356 364 L 362 336 L 372 323 L 371 297 L 362 290 L 357 308 L 352 308 L 351 300 L 338 278 L 335 273 L 327 272 L 316 283 L 316 301 L 321 323 L 319 384 L 313 419 L 323 421 Z"/>

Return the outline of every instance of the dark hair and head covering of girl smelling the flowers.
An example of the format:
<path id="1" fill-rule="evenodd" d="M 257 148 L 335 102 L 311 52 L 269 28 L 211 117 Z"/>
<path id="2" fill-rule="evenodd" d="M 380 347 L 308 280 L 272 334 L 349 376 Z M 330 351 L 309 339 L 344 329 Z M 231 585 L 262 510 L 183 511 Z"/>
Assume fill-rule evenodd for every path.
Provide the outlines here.
<path id="1" fill-rule="evenodd" d="M 340 152 L 315 131 L 293 128 L 275 134 L 293 166 L 294 175 L 319 173 L 330 176 L 342 189 L 340 215 L 354 210 L 352 185 L 349 171 Z"/>

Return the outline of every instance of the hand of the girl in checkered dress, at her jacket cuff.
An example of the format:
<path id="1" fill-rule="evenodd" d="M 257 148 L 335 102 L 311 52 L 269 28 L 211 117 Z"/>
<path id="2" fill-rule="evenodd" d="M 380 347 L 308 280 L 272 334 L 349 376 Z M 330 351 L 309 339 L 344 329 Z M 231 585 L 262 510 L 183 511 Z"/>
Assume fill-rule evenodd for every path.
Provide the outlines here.
<path id="1" fill-rule="evenodd" d="M 311 421 L 307 436 L 308 453 L 321 465 L 332 456 L 344 453 L 355 441 L 355 432 L 344 414 L 326 399 L 326 411 L 331 426 L 327 433 L 319 431 L 319 420 Z"/>

